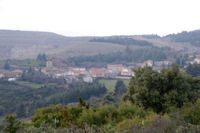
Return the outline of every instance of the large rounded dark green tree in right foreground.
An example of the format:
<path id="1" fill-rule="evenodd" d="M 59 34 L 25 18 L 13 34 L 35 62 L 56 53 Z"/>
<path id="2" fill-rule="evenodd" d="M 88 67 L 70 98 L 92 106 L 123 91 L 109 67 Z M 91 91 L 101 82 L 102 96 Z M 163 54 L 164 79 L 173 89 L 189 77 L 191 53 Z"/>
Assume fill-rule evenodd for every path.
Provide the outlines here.
<path id="1" fill-rule="evenodd" d="M 134 70 L 125 100 L 155 112 L 166 112 L 170 107 L 182 107 L 198 95 L 199 82 L 180 71 L 177 65 L 161 72 L 151 67 Z"/>

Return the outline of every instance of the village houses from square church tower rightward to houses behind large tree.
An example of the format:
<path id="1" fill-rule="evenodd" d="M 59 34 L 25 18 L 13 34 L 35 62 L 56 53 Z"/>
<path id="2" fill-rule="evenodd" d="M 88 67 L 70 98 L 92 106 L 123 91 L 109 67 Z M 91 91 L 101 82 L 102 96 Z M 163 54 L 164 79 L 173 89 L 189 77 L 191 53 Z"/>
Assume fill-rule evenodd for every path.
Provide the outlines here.
<path id="1" fill-rule="evenodd" d="M 46 75 L 54 78 L 65 78 L 66 80 L 73 80 L 82 78 L 85 82 L 93 82 L 96 78 L 119 78 L 119 79 L 130 79 L 134 76 L 132 68 L 150 66 L 155 70 L 160 70 L 162 68 L 169 67 L 171 62 L 169 61 L 159 61 L 154 62 L 152 60 L 147 60 L 143 63 L 136 63 L 131 65 L 123 64 L 108 64 L 106 67 L 102 68 L 80 68 L 80 67 L 64 67 L 57 68 L 54 67 L 52 61 L 47 61 L 46 67 L 41 69 Z"/>

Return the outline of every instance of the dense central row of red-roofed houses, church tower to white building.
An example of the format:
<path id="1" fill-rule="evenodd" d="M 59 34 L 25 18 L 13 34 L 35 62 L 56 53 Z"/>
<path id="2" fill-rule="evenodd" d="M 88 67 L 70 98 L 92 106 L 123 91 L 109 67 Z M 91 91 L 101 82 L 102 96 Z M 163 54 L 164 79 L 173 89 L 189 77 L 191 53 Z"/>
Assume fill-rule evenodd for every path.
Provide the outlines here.
<path id="1" fill-rule="evenodd" d="M 60 78 L 63 77 L 66 80 L 72 80 L 76 78 L 82 78 L 85 82 L 93 82 L 95 78 L 124 78 L 130 79 L 134 76 L 131 68 L 124 66 L 123 64 L 108 64 L 106 68 L 79 68 L 79 67 L 66 67 L 65 69 L 56 68 L 47 62 L 46 67 L 41 69 L 46 75 Z"/>

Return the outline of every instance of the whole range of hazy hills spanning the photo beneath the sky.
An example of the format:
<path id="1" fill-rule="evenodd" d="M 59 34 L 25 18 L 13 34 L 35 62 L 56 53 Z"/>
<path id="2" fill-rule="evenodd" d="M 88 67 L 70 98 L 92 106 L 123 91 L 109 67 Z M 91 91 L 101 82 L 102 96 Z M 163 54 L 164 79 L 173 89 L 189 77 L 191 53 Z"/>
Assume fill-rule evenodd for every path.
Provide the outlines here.
<path id="1" fill-rule="evenodd" d="M 113 40 L 114 38 L 114 40 Z M 103 41 L 102 41 L 103 39 Z M 39 53 L 70 57 L 124 51 L 126 47 L 170 47 L 175 51 L 200 51 L 200 31 L 157 35 L 66 37 L 51 32 L 0 30 L 0 59 L 35 58 Z"/>

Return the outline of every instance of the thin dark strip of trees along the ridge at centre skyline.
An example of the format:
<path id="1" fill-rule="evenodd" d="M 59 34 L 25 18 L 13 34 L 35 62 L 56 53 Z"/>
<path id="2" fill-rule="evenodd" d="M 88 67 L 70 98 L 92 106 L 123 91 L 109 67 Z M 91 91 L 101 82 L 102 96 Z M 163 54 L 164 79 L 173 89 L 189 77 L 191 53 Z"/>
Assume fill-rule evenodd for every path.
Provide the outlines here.
<path id="1" fill-rule="evenodd" d="M 153 46 L 152 43 L 149 43 L 147 41 L 136 40 L 130 37 L 120 37 L 120 36 L 94 38 L 91 39 L 90 42 L 105 42 L 105 43 L 114 43 L 121 45 Z"/>

